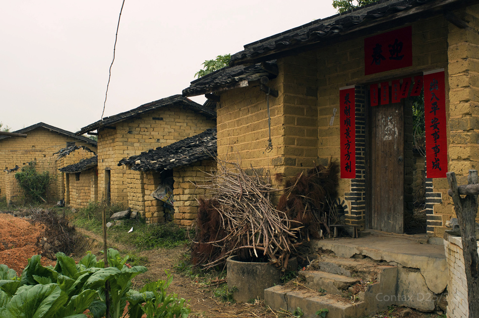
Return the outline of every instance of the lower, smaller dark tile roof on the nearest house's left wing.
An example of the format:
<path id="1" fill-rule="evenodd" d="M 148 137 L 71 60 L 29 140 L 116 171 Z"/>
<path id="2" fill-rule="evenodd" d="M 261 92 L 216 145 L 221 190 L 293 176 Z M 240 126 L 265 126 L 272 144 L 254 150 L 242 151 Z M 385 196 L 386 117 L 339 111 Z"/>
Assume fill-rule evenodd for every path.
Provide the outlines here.
<path id="1" fill-rule="evenodd" d="M 276 68 L 275 60 L 266 63 L 269 67 Z M 259 80 L 263 76 L 267 76 L 269 79 L 276 77 L 264 70 L 261 63 L 250 66 L 225 67 L 191 82 L 190 87 L 183 90 L 183 96 L 198 96 L 228 90 L 240 87 L 240 83 L 243 81 L 251 82 Z"/>

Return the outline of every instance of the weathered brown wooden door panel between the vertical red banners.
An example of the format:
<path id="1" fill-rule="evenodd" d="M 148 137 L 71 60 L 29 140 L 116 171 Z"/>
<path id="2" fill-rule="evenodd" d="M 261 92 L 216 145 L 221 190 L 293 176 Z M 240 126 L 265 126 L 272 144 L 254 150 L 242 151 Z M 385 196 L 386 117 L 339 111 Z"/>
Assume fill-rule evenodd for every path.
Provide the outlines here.
<path id="1" fill-rule="evenodd" d="M 403 103 L 371 107 L 371 134 L 371 228 L 403 233 Z"/>

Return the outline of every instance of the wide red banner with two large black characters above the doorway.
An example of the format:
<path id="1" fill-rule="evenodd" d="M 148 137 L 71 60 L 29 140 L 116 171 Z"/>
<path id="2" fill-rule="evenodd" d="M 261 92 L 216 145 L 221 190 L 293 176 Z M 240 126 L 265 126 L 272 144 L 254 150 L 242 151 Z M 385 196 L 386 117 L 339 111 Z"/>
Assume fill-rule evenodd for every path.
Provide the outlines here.
<path id="1" fill-rule="evenodd" d="M 411 26 L 364 39 L 364 74 L 412 66 Z"/>

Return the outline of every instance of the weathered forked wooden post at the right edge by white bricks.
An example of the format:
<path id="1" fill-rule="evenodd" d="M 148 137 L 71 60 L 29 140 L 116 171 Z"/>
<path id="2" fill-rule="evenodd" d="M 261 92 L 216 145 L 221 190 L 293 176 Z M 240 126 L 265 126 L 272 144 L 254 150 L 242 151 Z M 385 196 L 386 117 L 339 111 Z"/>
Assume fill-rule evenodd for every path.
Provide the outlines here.
<path id="1" fill-rule="evenodd" d="M 459 196 L 455 173 L 448 172 L 446 175 L 451 188 L 450 191 L 452 191 L 451 197 L 461 230 L 469 318 L 479 318 L 479 255 L 477 253 L 475 236 L 475 217 L 477 215 L 477 195 L 479 191 L 476 191 L 474 194 L 468 194 L 463 199 Z M 469 170 L 467 181 L 469 185 L 477 184 L 477 170 Z"/>

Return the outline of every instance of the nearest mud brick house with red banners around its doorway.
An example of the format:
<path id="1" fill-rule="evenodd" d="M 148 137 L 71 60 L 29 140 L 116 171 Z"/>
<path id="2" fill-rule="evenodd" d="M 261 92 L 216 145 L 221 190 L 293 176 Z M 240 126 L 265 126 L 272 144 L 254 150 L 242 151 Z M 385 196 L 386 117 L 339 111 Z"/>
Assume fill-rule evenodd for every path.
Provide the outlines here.
<path id="1" fill-rule="evenodd" d="M 427 233 L 442 237 L 454 215 L 445 173 L 479 164 L 477 43 L 476 1 L 383 0 L 247 44 L 183 95 L 217 101 L 219 158 L 237 151 L 245 167 L 290 176 L 336 160 L 348 222 L 402 233 L 424 86 Z M 228 76 L 247 68 L 263 82 Z"/>

